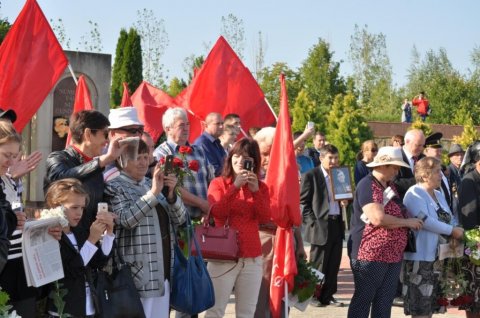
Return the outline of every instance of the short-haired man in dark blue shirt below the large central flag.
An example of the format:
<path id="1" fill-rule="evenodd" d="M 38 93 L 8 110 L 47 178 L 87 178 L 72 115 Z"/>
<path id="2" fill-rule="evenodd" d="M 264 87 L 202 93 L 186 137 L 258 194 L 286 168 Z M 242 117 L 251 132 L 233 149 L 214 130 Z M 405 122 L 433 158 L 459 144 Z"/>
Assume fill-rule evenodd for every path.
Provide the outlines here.
<path id="1" fill-rule="evenodd" d="M 223 133 L 223 118 L 219 113 L 210 113 L 205 117 L 205 131 L 195 140 L 194 145 L 201 147 L 208 162 L 215 168 L 215 176 L 222 173 L 226 153 L 220 143 Z"/>

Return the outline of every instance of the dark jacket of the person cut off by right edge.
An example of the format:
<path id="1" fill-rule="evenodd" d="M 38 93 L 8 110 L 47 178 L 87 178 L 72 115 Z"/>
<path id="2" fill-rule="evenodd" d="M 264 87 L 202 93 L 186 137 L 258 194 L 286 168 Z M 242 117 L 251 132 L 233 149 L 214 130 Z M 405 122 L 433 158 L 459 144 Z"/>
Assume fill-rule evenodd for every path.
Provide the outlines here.
<path id="1" fill-rule="evenodd" d="M 480 174 L 472 170 L 467 173 L 458 189 L 460 224 L 465 230 L 480 225 Z"/>

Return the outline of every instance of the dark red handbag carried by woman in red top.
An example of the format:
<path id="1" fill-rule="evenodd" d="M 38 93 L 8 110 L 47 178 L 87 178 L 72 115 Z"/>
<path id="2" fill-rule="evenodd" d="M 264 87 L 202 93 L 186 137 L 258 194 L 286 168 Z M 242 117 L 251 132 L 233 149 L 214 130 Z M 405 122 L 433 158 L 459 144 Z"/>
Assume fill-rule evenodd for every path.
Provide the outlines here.
<path id="1" fill-rule="evenodd" d="M 205 217 L 203 224 L 195 226 L 197 239 L 203 259 L 206 261 L 238 261 L 238 231 L 228 225 L 221 227 L 210 226 L 210 212 Z M 197 255 L 195 244 L 192 244 L 192 255 Z"/>

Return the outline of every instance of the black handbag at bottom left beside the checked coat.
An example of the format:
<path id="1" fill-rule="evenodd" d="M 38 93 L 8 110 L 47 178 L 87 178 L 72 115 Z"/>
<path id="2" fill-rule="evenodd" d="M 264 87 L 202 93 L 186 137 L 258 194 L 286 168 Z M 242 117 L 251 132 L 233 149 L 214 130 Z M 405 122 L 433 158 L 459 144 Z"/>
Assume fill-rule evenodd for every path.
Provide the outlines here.
<path id="1" fill-rule="evenodd" d="M 102 318 L 145 318 L 140 294 L 133 281 L 130 265 L 116 253 L 119 266 L 114 262 L 112 274 L 97 272 L 95 290 L 98 302 L 98 317 Z"/>

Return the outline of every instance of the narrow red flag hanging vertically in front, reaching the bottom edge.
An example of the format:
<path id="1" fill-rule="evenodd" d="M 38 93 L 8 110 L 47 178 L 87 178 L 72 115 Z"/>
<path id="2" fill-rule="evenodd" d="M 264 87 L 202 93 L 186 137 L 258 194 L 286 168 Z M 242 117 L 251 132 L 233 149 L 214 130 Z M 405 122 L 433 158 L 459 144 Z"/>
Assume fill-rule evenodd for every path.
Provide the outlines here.
<path id="1" fill-rule="evenodd" d="M 270 282 L 270 309 L 274 318 L 280 317 L 281 314 L 282 298 L 285 296 L 284 284 L 288 284 L 289 292 L 293 289 L 297 264 L 292 226 L 300 225 L 298 166 L 293 149 L 284 74 L 280 75 L 280 84 L 280 115 L 265 178 L 270 191 L 272 220 L 278 225 Z"/>

